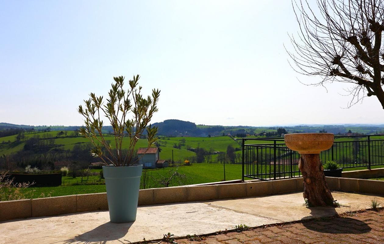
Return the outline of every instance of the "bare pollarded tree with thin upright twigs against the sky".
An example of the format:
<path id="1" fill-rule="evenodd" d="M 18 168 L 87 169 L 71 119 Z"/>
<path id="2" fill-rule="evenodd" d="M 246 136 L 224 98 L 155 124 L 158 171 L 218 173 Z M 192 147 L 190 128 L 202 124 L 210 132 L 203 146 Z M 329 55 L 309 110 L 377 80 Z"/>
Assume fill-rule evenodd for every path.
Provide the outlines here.
<path id="1" fill-rule="evenodd" d="M 288 51 L 298 73 L 320 76 L 322 85 L 346 82 L 352 100 L 376 96 L 384 108 L 384 3 L 381 0 L 307 0 L 292 6 L 299 24 Z"/>

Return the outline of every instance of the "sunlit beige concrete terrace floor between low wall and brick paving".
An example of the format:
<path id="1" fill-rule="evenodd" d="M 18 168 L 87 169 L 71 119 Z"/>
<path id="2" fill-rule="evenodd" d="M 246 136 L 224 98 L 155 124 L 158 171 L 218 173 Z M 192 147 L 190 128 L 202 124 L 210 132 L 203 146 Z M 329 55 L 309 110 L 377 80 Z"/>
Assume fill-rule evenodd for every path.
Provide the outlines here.
<path id="1" fill-rule="evenodd" d="M 367 209 L 372 198 L 384 197 L 333 192 L 339 208 L 303 206 L 303 193 L 141 206 L 132 223 L 109 222 L 108 211 L 33 217 L 0 222 L 0 242 L 14 243 L 129 243 L 161 239 L 168 232 L 177 237 L 201 235 L 246 224 L 256 227 Z M 129 242 L 128 242 L 129 241 Z"/>

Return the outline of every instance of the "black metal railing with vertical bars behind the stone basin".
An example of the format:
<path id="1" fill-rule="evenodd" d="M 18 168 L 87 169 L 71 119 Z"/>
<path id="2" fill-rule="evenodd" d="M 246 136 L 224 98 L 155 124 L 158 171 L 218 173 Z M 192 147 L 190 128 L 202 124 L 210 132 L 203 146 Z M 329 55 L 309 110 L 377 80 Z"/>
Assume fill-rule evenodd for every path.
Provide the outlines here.
<path id="1" fill-rule="evenodd" d="M 242 147 L 243 180 L 300 176 L 300 155 L 286 147 L 284 138 L 243 138 Z M 332 147 L 320 153 L 320 160 L 336 161 L 342 168 L 384 165 L 384 135 L 335 136 Z"/>

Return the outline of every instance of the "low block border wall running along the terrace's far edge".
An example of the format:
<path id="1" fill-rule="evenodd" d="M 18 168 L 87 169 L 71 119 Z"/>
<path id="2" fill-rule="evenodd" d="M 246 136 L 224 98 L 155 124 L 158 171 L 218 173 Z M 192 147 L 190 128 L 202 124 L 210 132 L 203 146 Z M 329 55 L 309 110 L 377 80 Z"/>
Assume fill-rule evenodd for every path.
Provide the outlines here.
<path id="1" fill-rule="evenodd" d="M 374 172 L 374 174 L 379 174 L 379 171 Z M 364 173 L 364 175 L 367 174 Z M 326 180 L 331 190 L 384 195 L 384 181 L 333 177 L 326 177 Z M 301 177 L 275 181 L 246 181 L 237 184 L 154 188 L 139 191 L 138 205 L 245 198 L 295 191 L 303 191 L 303 179 Z M 0 221 L 101 210 L 108 210 L 106 193 L 3 201 L 0 202 Z"/>

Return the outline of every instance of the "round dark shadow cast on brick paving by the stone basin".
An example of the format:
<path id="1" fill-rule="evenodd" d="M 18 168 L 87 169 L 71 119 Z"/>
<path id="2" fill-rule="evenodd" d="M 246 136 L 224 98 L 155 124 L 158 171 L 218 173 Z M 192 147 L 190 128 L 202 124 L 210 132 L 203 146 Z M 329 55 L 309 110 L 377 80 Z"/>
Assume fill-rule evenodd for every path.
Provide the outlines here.
<path id="1" fill-rule="evenodd" d="M 324 207 L 310 207 L 310 214 L 318 217 L 319 212 L 324 212 Z M 333 207 L 327 207 L 327 216 L 338 214 Z M 303 225 L 311 231 L 331 234 L 363 234 L 371 231 L 365 222 L 349 217 L 320 217 L 308 221 L 308 217 L 303 218 Z"/>

